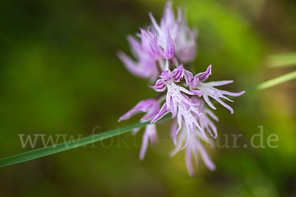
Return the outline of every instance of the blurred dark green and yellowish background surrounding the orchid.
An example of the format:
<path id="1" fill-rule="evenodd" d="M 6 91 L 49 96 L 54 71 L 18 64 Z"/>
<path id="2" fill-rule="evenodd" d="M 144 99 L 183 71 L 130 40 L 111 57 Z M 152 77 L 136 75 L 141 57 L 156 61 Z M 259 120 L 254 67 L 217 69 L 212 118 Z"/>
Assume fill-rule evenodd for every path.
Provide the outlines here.
<path id="1" fill-rule="evenodd" d="M 147 80 L 132 76 L 115 53 L 129 53 L 127 34 L 159 21 L 163 0 L 0 1 L 0 158 L 31 150 L 18 134 L 87 136 L 135 123 L 117 123 L 139 100 L 155 97 Z M 213 65 L 209 80 L 238 92 L 295 67 L 267 68 L 268 54 L 296 51 L 295 0 L 175 0 L 198 27 L 196 72 Z M 174 158 L 170 124 L 160 144 L 140 162 L 142 132 L 130 133 L 37 160 L 0 168 L 1 197 L 278 197 L 296 196 L 296 83 L 246 94 L 217 105 L 219 134 L 239 134 L 240 148 L 209 150 L 217 170 L 186 171 L 184 151 Z M 263 126 L 263 142 L 243 148 Z M 69 137 L 69 136 L 68 136 Z M 229 137 L 229 145 L 233 144 Z M 221 139 L 223 141 L 223 138 Z M 255 141 L 259 143 L 259 139 Z M 222 144 L 222 142 L 221 142 Z M 36 148 L 42 147 L 37 140 Z M 108 147 L 108 148 L 107 148 Z"/>

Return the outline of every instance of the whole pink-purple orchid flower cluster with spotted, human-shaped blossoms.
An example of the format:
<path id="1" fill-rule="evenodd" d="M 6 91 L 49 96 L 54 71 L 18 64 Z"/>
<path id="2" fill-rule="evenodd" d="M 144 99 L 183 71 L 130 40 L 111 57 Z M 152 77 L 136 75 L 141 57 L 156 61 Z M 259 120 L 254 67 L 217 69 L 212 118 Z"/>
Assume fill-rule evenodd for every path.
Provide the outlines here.
<path id="1" fill-rule="evenodd" d="M 150 82 L 155 84 L 150 87 L 160 92 L 160 95 L 156 99 L 140 101 L 118 121 L 126 120 L 136 113 L 147 113 L 141 119 L 151 122 L 146 126 L 143 135 L 140 151 L 140 159 L 143 160 L 148 142 L 157 142 L 154 123 L 171 113 L 171 118 L 174 119 L 171 137 L 176 146 L 171 155 L 186 148 L 185 162 L 190 175 L 194 175 L 192 158 L 198 161 L 199 156 L 210 170 L 214 170 L 215 164 L 208 156 L 202 141 L 209 143 L 211 141 L 209 136 L 217 137 L 217 129 L 211 119 L 218 121 L 218 117 L 206 106 L 206 103 L 212 109 L 216 109 L 209 99 L 211 97 L 233 113 L 233 109 L 222 99 L 232 101 L 225 95 L 237 97 L 245 91 L 231 93 L 215 88 L 232 81 L 205 82 L 212 73 L 211 65 L 205 72 L 196 75 L 185 69 L 183 64 L 187 65 L 195 59 L 197 47 L 196 35 L 187 26 L 180 8 L 175 19 L 172 3 L 167 2 L 160 24 L 151 13 L 149 17 L 151 25 L 146 30 L 140 28 L 141 33 L 136 34 L 137 38 L 133 36 L 127 38 L 136 60 L 123 52 L 117 55 L 132 74 L 149 78 Z M 138 131 L 139 129 L 136 129 L 132 133 Z"/>

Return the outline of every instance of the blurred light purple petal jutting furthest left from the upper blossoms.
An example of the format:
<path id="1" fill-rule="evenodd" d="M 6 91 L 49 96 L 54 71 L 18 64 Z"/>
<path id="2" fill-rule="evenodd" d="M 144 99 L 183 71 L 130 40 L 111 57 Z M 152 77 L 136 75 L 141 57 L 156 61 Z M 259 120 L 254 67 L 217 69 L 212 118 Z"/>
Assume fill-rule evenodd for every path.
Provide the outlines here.
<path id="1" fill-rule="evenodd" d="M 143 70 L 142 67 L 140 67 L 134 60 L 132 60 L 130 57 L 125 55 L 122 51 L 119 51 L 117 53 L 118 58 L 121 60 L 121 62 L 124 64 L 126 69 L 128 69 L 129 72 L 132 74 L 141 77 L 141 78 L 148 78 L 150 75 L 150 70 Z"/>

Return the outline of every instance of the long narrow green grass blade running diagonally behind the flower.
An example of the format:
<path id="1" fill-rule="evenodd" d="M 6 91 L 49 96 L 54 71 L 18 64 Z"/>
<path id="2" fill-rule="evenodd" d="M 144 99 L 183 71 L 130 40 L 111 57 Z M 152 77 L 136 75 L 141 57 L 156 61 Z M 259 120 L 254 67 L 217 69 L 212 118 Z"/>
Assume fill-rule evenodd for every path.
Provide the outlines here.
<path id="1" fill-rule="evenodd" d="M 296 71 L 290 72 L 288 74 L 285 74 L 285 75 L 276 77 L 274 79 L 270 79 L 268 81 L 265 81 L 263 83 L 260 83 L 259 85 L 253 86 L 253 87 L 247 89 L 246 93 L 270 88 L 270 87 L 276 86 L 278 84 L 281 84 L 281 83 L 284 83 L 284 82 L 287 82 L 287 81 L 290 81 L 293 79 L 296 79 Z M 170 117 L 171 117 L 171 115 L 167 114 L 159 121 L 168 119 Z M 58 153 L 58 152 L 66 151 L 69 149 L 77 148 L 77 147 L 80 147 L 83 145 L 91 144 L 91 143 L 94 143 L 94 142 L 97 142 L 97 141 L 100 141 L 103 139 L 107 139 L 110 137 L 114 137 L 116 135 L 120 135 L 120 134 L 129 132 L 129 131 L 132 131 L 135 128 L 142 128 L 148 124 L 149 124 L 149 121 L 144 122 L 144 123 L 137 123 L 134 125 L 120 128 L 120 129 L 115 129 L 115 130 L 95 134 L 92 136 L 76 139 L 74 141 L 60 143 L 55 146 L 48 146 L 48 147 L 44 147 L 44 148 L 39 148 L 36 150 L 32 150 L 32 151 L 28 151 L 28 152 L 21 153 L 18 155 L 14 155 L 11 157 L 3 158 L 3 159 L 0 159 L 0 167 L 6 166 L 6 165 L 11 165 L 11 164 L 17 164 L 17 163 L 21 163 L 21 162 L 26 162 L 29 160 L 37 159 L 39 157 L 44 157 L 44 156 L 51 155 L 54 153 Z"/>

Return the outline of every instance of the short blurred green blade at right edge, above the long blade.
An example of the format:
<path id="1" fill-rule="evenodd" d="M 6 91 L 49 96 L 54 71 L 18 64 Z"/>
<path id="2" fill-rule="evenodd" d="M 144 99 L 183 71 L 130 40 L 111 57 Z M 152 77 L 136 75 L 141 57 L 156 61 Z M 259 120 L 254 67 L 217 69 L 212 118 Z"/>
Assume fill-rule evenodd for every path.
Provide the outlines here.
<path id="1" fill-rule="evenodd" d="M 268 55 L 265 61 L 267 67 L 296 66 L 296 52 Z"/>

